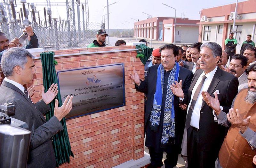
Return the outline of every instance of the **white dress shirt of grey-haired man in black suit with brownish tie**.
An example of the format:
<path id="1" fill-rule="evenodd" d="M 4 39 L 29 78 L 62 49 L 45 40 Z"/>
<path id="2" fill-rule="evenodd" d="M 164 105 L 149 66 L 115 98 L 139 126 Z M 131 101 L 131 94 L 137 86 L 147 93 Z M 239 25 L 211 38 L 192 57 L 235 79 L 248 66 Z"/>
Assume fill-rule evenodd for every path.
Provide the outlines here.
<path id="1" fill-rule="evenodd" d="M 215 67 L 215 69 L 213 69 L 211 72 L 209 72 L 208 74 L 205 75 L 205 72 L 203 71 L 203 73 L 199 76 L 198 80 L 196 81 L 196 84 L 192 90 L 192 94 L 191 94 L 191 100 L 190 103 L 188 104 L 188 109 L 191 105 L 193 96 L 196 92 L 196 88 L 198 87 L 198 85 L 200 84 L 200 82 L 202 81 L 203 76 L 205 75 L 207 78 L 204 80 L 204 84 L 202 86 L 202 89 L 198 95 L 198 98 L 196 100 L 196 104 L 194 106 L 193 112 L 192 112 L 192 116 L 191 116 L 191 122 L 190 125 L 198 128 L 199 129 L 199 120 L 200 120 L 200 111 L 201 111 L 201 107 L 202 107 L 202 103 L 203 103 L 203 96 L 201 95 L 202 91 L 207 91 L 211 82 L 212 82 L 212 78 L 217 70 L 217 67 Z"/>

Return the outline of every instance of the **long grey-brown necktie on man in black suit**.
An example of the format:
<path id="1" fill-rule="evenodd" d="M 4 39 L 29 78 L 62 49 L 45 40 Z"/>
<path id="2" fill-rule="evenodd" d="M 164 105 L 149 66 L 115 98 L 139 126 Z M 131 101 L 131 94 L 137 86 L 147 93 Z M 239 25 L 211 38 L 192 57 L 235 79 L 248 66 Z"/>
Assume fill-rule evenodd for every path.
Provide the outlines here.
<path id="1" fill-rule="evenodd" d="M 202 77 L 202 81 L 200 82 L 200 84 L 199 84 L 199 85 L 197 86 L 197 88 L 196 88 L 196 91 L 195 91 L 195 94 L 194 94 L 194 96 L 193 96 L 192 102 L 191 102 L 191 104 L 190 104 L 190 106 L 189 106 L 189 109 L 188 109 L 188 115 L 187 115 L 187 120 L 186 120 L 186 125 L 185 125 L 186 129 L 188 129 L 188 128 L 190 127 L 190 121 L 191 121 L 192 112 L 193 112 L 193 110 L 194 110 L 194 106 L 195 106 L 195 104 L 196 104 L 197 97 L 198 97 L 198 95 L 199 95 L 199 93 L 200 93 L 200 91 L 201 91 L 201 89 L 202 89 L 202 87 L 203 87 L 204 80 L 205 80 L 206 78 L 207 78 L 207 77 L 204 75 L 204 76 Z"/>

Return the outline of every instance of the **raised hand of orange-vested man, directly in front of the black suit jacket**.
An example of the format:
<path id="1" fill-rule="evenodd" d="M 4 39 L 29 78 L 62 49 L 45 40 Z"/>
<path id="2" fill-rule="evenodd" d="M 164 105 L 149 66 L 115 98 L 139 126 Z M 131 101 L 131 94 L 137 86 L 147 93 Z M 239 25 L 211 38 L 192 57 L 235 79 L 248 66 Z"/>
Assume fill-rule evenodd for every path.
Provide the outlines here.
<path id="1" fill-rule="evenodd" d="M 215 98 L 213 98 L 207 91 L 202 91 L 201 94 L 203 96 L 205 103 L 209 107 L 211 107 L 217 115 L 219 115 L 221 110 L 220 110 L 220 101 L 218 99 L 218 93 L 214 92 Z"/>

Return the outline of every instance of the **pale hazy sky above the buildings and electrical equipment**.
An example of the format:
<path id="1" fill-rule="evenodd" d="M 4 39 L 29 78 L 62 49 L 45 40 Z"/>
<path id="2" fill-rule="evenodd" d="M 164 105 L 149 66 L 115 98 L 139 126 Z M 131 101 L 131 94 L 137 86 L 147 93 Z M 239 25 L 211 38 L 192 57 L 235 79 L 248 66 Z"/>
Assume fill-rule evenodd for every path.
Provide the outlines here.
<path id="1" fill-rule="evenodd" d="M 1 0 L 3 1 L 3 0 Z M 52 18 L 67 19 L 67 8 L 66 8 L 66 0 L 49 0 L 51 2 L 51 10 L 52 10 Z M 77 20 L 77 5 L 75 1 L 75 19 Z M 246 0 L 238 0 L 238 2 L 243 2 Z M 16 0 L 17 4 L 20 5 L 20 0 Z M 72 0 L 68 0 L 69 4 L 71 4 Z M 117 2 L 117 3 L 115 3 Z M 43 8 L 46 7 L 46 0 L 27 0 L 27 3 L 34 3 L 36 6 L 36 10 L 39 11 L 40 18 L 44 17 Z M 85 3 L 85 0 L 80 0 L 80 19 L 82 21 L 82 7 L 81 4 Z M 112 4 L 115 3 L 115 4 Z M 135 20 L 144 20 L 148 18 L 148 15 L 142 13 L 148 13 L 153 18 L 154 17 L 174 17 L 175 11 L 174 9 L 164 6 L 163 4 L 167 4 L 176 9 L 176 17 L 180 18 L 182 13 L 186 18 L 189 19 L 200 19 L 199 11 L 206 8 L 234 4 L 236 0 L 108 0 L 109 5 L 109 28 L 116 29 L 119 27 L 120 29 L 124 29 L 124 23 L 126 25 L 126 29 L 129 28 L 129 23 L 131 24 L 131 28 Z M 107 6 L 107 0 L 88 0 L 89 6 L 89 21 L 101 23 L 103 16 L 103 8 Z M 27 8 L 27 6 L 26 6 Z M 235 11 L 235 9 L 234 9 Z M 107 14 L 107 7 L 105 8 L 105 14 Z M 36 15 L 36 17 L 38 17 Z M 107 18 L 107 15 L 105 16 Z M 127 22 L 125 22 L 127 21 Z M 105 21 L 106 29 L 107 29 L 107 19 Z"/>

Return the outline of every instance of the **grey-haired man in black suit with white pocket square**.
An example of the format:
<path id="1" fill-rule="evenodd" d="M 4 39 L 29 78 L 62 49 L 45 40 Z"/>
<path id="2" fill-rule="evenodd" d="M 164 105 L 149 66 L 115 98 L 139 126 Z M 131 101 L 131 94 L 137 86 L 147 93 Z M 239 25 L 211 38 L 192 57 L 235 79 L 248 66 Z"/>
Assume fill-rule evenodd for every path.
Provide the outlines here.
<path id="1" fill-rule="evenodd" d="M 211 96 L 218 93 L 220 108 L 225 113 L 231 106 L 237 94 L 238 79 L 234 75 L 221 70 L 217 65 L 222 49 L 214 42 L 204 43 L 200 51 L 200 68 L 189 87 L 188 94 L 182 95 L 175 91 L 175 95 L 184 97 L 188 104 L 186 119 L 188 143 L 188 168 L 214 168 L 220 146 L 227 133 L 227 129 L 214 121 L 214 110 L 208 106 L 200 94 L 207 91 Z M 177 89 L 178 90 L 178 89 Z"/>

